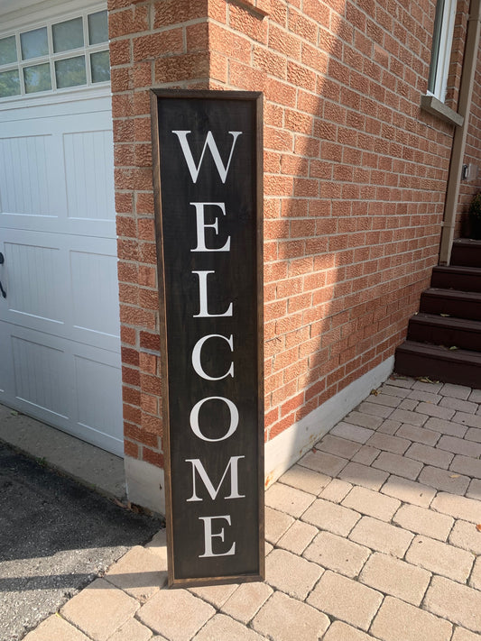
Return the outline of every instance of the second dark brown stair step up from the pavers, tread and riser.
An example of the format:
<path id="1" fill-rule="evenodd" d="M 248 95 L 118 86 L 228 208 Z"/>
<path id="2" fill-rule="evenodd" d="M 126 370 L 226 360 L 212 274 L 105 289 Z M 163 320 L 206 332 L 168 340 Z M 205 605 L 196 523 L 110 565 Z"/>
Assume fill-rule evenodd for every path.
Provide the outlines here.
<path id="1" fill-rule="evenodd" d="M 421 312 L 409 321 L 408 339 L 481 352 L 481 321 Z"/>

